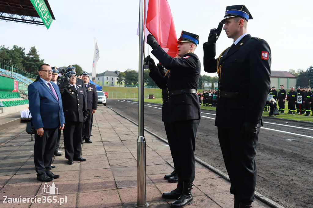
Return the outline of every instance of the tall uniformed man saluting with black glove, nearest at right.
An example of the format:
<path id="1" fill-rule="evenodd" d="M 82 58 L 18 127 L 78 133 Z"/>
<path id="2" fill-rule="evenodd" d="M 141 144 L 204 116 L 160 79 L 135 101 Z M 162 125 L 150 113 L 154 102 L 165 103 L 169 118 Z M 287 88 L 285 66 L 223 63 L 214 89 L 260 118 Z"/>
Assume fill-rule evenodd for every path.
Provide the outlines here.
<path id="1" fill-rule="evenodd" d="M 254 157 L 270 85 L 271 50 L 266 41 L 247 33 L 249 19 L 244 5 L 226 7 L 218 28 L 211 29 L 203 44 L 204 71 L 219 75 L 215 126 L 235 208 L 251 207 L 255 200 Z M 215 59 L 222 28 L 233 45 Z"/>

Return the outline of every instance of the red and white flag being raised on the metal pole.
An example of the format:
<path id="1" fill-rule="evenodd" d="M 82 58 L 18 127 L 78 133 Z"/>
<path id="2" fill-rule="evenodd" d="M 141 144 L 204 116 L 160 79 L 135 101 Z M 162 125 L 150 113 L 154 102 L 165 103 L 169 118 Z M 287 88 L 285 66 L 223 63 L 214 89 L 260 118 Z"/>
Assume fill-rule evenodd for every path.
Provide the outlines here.
<path id="1" fill-rule="evenodd" d="M 168 0 L 146 0 L 145 17 L 145 36 L 147 37 L 150 32 L 163 50 L 171 57 L 175 57 L 178 52 L 177 36 Z M 139 24 L 137 35 L 139 35 Z"/>

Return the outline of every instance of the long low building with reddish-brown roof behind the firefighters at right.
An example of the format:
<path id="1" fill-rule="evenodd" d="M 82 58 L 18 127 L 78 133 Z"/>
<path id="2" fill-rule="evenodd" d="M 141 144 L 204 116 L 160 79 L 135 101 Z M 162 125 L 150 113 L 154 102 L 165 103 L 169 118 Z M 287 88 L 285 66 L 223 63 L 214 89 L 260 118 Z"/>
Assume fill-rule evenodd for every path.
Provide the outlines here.
<path id="1" fill-rule="evenodd" d="M 280 88 L 280 85 L 284 85 L 287 90 L 290 87 L 296 88 L 297 77 L 290 72 L 286 71 L 271 71 L 271 87 Z"/>

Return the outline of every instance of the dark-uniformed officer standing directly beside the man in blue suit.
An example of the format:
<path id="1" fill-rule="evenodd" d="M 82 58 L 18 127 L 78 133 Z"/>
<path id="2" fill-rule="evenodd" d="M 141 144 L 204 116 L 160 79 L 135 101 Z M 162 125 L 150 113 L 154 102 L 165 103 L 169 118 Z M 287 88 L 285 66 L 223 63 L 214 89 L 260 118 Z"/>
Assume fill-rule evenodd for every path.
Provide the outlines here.
<path id="1" fill-rule="evenodd" d="M 80 156 L 83 122 L 88 117 L 86 98 L 82 87 L 76 85 L 77 75 L 74 71 L 65 74 L 66 80 L 59 85 L 62 95 L 63 111 L 67 125 L 63 130 L 64 150 L 67 163 L 86 161 Z"/>

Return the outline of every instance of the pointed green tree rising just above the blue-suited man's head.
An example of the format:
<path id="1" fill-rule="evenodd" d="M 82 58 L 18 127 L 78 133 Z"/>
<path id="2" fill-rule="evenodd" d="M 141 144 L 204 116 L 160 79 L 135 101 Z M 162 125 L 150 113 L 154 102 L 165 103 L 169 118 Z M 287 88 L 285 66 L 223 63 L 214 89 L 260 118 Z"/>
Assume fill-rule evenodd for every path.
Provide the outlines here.
<path id="1" fill-rule="evenodd" d="M 37 74 L 38 68 L 41 64 L 44 64 L 44 59 L 39 58 L 38 51 L 34 46 L 31 47 L 25 57 L 25 71 L 31 74 Z"/>

